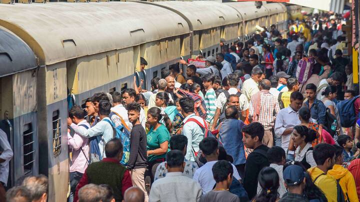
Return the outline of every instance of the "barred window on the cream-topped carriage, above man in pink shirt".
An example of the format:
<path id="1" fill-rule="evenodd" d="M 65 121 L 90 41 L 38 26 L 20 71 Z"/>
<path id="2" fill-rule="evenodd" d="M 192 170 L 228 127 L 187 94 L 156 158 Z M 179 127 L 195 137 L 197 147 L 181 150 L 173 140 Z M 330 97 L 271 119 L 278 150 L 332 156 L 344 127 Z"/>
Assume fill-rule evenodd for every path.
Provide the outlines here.
<path id="1" fill-rule="evenodd" d="M 59 110 L 52 112 L 52 154 L 57 157 L 61 153 L 61 118 Z"/>

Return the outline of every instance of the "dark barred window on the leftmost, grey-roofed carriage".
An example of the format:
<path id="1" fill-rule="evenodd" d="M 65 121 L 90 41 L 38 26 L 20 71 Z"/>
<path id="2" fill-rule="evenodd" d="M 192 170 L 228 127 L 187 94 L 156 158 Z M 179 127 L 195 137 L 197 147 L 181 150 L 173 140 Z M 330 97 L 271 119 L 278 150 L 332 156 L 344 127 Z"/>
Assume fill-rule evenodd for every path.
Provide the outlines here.
<path id="1" fill-rule="evenodd" d="M 23 147 L 23 170 L 24 176 L 32 175 L 32 168 L 34 163 L 34 131 L 32 130 L 31 123 L 23 126 L 22 133 L 22 147 Z"/>

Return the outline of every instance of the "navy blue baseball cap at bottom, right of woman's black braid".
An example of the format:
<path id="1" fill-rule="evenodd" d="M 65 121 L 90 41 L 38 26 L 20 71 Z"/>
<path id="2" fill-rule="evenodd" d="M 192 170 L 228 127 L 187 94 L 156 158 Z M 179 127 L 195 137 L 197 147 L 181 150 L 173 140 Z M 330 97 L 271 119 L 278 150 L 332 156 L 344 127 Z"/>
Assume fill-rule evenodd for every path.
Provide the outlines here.
<path id="1" fill-rule="evenodd" d="M 303 169 L 297 165 L 286 167 L 282 173 L 282 176 L 287 186 L 300 185 L 305 178 Z"/>

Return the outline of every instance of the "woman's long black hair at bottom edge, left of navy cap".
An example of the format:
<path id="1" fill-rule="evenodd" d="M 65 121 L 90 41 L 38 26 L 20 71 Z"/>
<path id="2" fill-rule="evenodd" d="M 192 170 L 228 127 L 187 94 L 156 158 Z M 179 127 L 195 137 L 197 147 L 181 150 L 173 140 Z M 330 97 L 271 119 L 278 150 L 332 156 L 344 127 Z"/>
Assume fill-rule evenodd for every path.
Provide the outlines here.
<path id="1" fill-rule="evenodd" d="M 279 198 L 277 189 L 280 186 L 279 176 L 275 169 L 265 167 L 258 175 L 261 192 L 256 195 L 255 202 L 275 202 Z"/>

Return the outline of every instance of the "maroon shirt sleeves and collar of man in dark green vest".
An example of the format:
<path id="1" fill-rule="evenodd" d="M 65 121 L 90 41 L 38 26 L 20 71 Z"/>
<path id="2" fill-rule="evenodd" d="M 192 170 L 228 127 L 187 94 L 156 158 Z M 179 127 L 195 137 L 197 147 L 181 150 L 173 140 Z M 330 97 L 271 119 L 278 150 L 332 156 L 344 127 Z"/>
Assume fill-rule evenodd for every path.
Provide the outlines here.
<path id="1" fill-rule="evenodd" d="M 104 158 L 102 160 L 103 162 L 112 162 L 112 163 L 116 163 L 116 164 L 119 164 L 120 165 L 120 162 L 116 159 L 111 159 L 111 158 Z M 101 175 L 101 174 L 99 174 Z M 76 192 L 75 192 L 75 197 L 74 197 L 74 202 L 77 202 L 78 200 L 78 191 L 85 185 L 89 184 L 88 183 L 88 177 L 87 177 L 87 174 L 86 174 L 86 171 L 85 173 L 82 175 L 81 179 L 80 179 L 80 182 L 77 184 L 76 186 Z M 122 181 L 121 181 L 121 184 L 122 184 L 122 189 L 121 189 L 121 193 L 122 193 L 122 196 L 124 196 L 124 193 L 125 191 L 132 187 L 132 181 L 131 181 L 131 176 L 130 176 L 130 173 L 128 170 L 125 171 L 124 175 L 123 175 L 123 178 L 122 178 Z"/>

